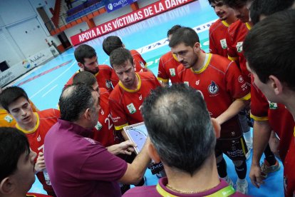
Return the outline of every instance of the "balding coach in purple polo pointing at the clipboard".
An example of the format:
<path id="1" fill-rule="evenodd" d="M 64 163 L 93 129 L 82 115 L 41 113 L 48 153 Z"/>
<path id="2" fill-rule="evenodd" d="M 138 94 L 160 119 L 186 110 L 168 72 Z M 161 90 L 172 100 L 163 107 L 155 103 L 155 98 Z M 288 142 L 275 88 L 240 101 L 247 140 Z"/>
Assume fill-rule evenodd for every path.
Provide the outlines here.
<path id="1" fill-rule="evenodd" d="M 133 143 L 105 148 L 89 138 L 98 122 L 97 91 L 83 84 L 68 86 L 59 106 L 61 118 L 44 143 L 46 170 L 57 196 L 121 196 L 118 182 L 140 181 L 150 161 L 147 146 L 129 164 L 114 154 L 133 151 Z"/>

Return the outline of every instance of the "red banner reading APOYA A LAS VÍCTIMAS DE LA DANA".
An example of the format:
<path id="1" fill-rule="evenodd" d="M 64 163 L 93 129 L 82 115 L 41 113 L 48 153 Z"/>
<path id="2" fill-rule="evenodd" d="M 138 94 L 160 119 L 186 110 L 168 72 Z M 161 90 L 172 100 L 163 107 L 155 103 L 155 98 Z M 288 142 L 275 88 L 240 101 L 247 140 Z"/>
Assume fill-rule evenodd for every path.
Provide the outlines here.
<path id="1" fill-rule="evenodd" d="M 95 26 L 92 29 L 88 29 L 87 31 L 83 31 L 81 34 L 76 34 L 71 36 L 71 41 L 74 46 L 81 44 L 85 41 L 89 41 L 95 39 L 104 34 L 108 34 L 112 31 L 116 31 L 125 26 L 129 26 L 131 24 L 135 24 L 138 21 L 143 21 L 152 16 L 156 16 L 157 14 L 161 14 L 165 11 L 169 11 L 171 9 L 175 9 L 179 6 L 183 6 L 184 4 L 190 3 L 195 0 L 160 0 L 155 2 L 154 4 L 150 4 L 145 6 L 137 11 L 133 11 L 129 14 L 125 14 L 123 16 L 118 17 L 117 19 L 113 19 L 104 24 L 100 24 L 99 26 Z"/>

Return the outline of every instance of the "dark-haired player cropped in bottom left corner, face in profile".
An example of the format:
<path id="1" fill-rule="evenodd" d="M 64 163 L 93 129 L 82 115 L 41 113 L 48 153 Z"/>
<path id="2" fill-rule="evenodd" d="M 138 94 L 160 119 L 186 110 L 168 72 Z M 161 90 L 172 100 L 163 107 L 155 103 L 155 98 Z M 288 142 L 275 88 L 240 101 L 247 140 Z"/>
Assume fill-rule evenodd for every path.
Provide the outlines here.
<path id="1" fill-rule="evenodd" d="M 36 179 L 36 156 L 23 132 L 16 128 L 0 127 L 0 196 L 47 196 L 27 193 Z"/>

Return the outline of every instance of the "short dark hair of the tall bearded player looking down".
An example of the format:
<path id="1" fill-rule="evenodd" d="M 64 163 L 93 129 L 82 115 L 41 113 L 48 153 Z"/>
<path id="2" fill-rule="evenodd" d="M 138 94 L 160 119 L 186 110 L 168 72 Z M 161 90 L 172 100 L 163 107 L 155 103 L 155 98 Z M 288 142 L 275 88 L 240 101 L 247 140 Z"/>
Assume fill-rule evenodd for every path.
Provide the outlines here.
<path id="1" fill-rule="evenodd" d="M 185 44 L 185 46 L 193 47 L 196 42 L 200 42 L 199 36 L 196 31 L 190 27 L 181 27 L 173 34 L 169 46 L 174 47 L 178 44 Z"/>

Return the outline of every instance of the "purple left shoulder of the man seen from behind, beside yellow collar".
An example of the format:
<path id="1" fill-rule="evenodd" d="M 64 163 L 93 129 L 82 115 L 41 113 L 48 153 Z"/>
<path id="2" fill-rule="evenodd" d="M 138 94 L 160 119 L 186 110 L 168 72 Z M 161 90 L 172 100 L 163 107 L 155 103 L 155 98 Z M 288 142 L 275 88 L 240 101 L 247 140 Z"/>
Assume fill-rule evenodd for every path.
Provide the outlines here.
<path id="1" fill-rule="evenodd" d="M 131 188 L 123 196 L 160 196 L 160 194 L 157 193 L 155 186 L 141 186 Z"/>

